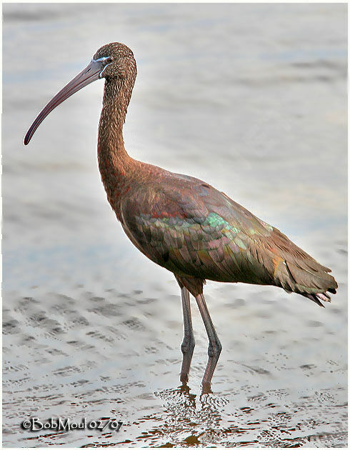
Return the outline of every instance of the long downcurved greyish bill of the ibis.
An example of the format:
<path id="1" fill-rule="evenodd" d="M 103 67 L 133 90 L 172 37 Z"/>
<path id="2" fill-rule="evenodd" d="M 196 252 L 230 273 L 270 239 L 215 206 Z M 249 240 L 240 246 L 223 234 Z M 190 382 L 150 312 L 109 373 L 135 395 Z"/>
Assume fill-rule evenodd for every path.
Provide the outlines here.
<path id="1" fill-rule="evenodd" d="M 59 106 L 62 101 L 68 99 L 71 95 L 75 94 L 76 91 L 79 91 L 79 89 L 92 83 L 92 81 L 98 80 L 99 74 L 101 74 L 101 71 L 104 69 L 105 65 L 106 64 L 104 63 L 104 59 L 101 58 L 96 61 L 93 59 L 91 63 L 86 66 L 83 71 L 80 72 L 80 74 L 69 81 L 69 83 L 66 84 L 66 86 L 64 86 L 64 88 L 61 89 L 61 91 L 59 91 L 59 93 L 49 101 L 44 109 L 39 112 L 38 116 L 31 124 L 31 127 L 26 132 L 26 136 L 24 137 L 24 145 L 29 144 L 31 136 L 33 136 L 38 126 L 45 119 L 45 117 L 48 116 L 51 111 L 56 108 L 56 106 Z"/>

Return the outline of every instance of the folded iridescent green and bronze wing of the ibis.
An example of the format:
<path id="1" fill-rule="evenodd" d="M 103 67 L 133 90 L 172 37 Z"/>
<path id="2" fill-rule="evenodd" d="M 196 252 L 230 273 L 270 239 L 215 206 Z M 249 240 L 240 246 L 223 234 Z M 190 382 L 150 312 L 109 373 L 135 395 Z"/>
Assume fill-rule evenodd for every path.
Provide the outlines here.
<path id="1" fill-rule="evenodd" d="M 226 194 L 179 174 L 162 181 L 139 186 L 121 204 L 126 234 L 156 264 L 179 276 L 299 293 L 336 285 L 329 269 Z"/>

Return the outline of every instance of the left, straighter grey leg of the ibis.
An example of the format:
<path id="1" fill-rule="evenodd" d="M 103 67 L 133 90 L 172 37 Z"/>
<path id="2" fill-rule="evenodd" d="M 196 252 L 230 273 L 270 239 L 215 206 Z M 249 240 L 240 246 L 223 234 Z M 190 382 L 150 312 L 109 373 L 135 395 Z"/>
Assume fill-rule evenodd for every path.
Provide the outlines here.
<path id="1" fill-rule="evenodd" d="M 189 379 L 189 366 L 194 353 L 194 331 L 192 329 L 191 305 L 189 303 L 189 291 L 181 288 L 182 312 L 184 314 L 184 341 L 181 344 L 182 366 L 180 381 L 186 383 Z"/>

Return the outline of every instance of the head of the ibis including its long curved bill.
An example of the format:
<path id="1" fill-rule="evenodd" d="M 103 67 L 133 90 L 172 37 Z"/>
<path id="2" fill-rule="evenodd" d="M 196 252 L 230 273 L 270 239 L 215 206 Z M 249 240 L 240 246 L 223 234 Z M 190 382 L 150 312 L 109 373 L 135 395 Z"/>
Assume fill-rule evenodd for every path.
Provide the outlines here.
<path id="1" fill-rule="evenodd" d="M 106 81 L 123 83 L 129 81 L 129 95 L 136 77 L 136 62 L 132 51 L 124 44 L 112 42 L 97 50 L 86 68 L 69 81 L 58 94 L 41 110 L 24 137 L 24 145 L 29 144 L 31 136 L 50 112 L 84 86 L 104 78 Z"/>

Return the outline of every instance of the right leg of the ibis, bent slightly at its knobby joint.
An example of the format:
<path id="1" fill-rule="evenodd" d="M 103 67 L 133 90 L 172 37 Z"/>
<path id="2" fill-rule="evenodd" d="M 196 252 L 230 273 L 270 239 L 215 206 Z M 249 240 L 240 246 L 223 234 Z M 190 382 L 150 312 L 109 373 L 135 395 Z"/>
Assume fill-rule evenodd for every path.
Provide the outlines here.
<path id="1" fill-rule="evenodd" d="M 209 339 L 209 346 L 208 346 L 209 358 L 206 364 L 206 370 L 204 372 L 201 384 L 204 387 L 210 387 L 211 377 L 214 374 L 214 369 L 220 356 L 221 344 L 214 329 L 213 322 L 211 321 L 211 318 L 209 316 L 209 311 L 208 308 L 206 307 L 206 302 L 204 300 L 203 294 L 199 294 L 196 296 L 196 302 L 199 307 L 199 312 L 201 313 L 201 318 L 204 321 L 204 326 L 206 327 L 206 334 L 208 335 Z"/>

